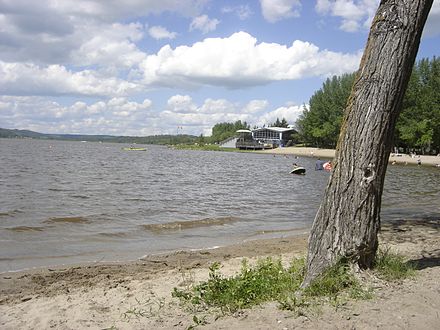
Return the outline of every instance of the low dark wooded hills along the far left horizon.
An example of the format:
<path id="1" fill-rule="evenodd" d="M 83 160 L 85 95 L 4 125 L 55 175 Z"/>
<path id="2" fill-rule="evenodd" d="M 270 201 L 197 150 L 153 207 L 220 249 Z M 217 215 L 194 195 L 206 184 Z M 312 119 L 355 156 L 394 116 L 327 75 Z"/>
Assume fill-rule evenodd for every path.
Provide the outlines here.
<path id="1" fill-rule="evenodd" d="M 41 139 L 64 141 L 115 142 L 138 144 L 178 144 L 194 143 L 194 135 L 153 135 L 153 136 L 112 136 L 112 135 L 82 135 L 82 134 L 45 134 L 30 130 L 0 128 L 0 138 L 10 139 Z"/>

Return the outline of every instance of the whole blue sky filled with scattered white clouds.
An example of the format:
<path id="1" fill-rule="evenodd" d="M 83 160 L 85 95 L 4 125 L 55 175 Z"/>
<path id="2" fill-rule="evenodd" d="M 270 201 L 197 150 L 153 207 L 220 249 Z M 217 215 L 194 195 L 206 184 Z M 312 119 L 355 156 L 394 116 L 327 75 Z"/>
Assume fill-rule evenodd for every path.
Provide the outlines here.
<path id="1" fill-rule="evenodd" d="M 378 0 L 0 0 L 0 127 L 211 135 L 290 124 L 357 70 Z M 440 55 L 434 0 L 418 59 Z"/>

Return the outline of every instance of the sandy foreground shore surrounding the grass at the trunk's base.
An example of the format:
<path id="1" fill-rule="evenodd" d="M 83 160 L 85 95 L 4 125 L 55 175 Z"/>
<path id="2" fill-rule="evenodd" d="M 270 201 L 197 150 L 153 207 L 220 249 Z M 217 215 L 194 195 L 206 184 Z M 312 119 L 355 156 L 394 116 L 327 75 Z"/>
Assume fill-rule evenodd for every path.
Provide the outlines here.
<path id="1" fill-rule="evenodd" d="M 214 261 L 234 274 L 241 261 L 291 260 L 305 254 L 307 234 L 194 252 L 148 256 L 132 263 L 89 264 L 0 274 L 1 329 L 439 329 L 440 219 L 383 225 L 381 245 L 417 261 L 417 276 L 375 282 L 374 298 L 297 317 L 276 303 L 235 315 L 185 311 L 171 297 L 208 276 Z"/>

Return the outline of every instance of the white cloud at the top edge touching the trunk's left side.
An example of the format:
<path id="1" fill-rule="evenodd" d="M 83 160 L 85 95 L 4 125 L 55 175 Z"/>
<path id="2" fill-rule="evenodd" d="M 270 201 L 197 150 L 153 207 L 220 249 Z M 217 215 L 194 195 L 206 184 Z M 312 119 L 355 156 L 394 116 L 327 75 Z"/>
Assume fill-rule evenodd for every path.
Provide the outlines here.
<path id="1" fill-rule="evenodd" d="M 378 5 L 378 0 L 317 0 L 315 10 L 321 15 L 341 18 L 341 30 L 357 32 L 370 27 Z"/>

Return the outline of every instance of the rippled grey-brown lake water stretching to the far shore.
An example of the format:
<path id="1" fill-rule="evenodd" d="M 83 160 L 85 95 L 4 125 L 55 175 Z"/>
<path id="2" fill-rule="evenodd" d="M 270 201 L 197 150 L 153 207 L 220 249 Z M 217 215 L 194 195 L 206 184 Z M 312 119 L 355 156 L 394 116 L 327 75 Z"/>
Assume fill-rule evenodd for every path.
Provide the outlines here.
<path id="1" fill-rule="evenodd" d="M 329 177 L 311 158 L 122 147 L 0 139 L 0 272 L 292 235 Z M 438 218 L 439 196 L 438 169 L 389 166 L 382 220 Z"/>

